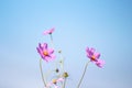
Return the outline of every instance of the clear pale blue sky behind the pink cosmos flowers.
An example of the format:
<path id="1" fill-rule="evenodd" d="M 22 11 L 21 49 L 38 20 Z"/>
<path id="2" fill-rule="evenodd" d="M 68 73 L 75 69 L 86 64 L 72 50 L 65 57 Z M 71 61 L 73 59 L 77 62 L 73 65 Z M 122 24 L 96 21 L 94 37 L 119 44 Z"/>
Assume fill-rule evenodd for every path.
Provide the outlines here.
<path id="1" fill-rule="evenodd" d="M 0 88 L 43 88 L 36 46 L 50 43 L 42 33 L 53 26 L 69 73 L 66 88 L 76 88 L 86 46 L 106 65 L 90 63 L 81 88 L 132 88 L 131 0 L 0 0 Z"/>

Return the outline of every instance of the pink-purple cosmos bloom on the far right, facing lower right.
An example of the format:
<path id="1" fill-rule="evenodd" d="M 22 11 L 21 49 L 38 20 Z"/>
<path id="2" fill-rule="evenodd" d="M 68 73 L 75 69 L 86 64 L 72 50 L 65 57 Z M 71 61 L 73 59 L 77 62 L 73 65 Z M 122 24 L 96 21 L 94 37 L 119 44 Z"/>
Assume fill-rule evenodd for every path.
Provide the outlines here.
<path id="1" fill-rule="evenodd" d="M 87 47 L 86 48 L 86 53 L 87 53 L 87 57 L 90 58 L 91 62 L 95 62 L 95 64 L 98 66 L 98 67 L 102 67 L 103 64 L 105 64 L 105 61 L 102 59 L 99 59 L 100 57 L 100 53 L 97 53 L 95 48 L 89 48 Z"/>

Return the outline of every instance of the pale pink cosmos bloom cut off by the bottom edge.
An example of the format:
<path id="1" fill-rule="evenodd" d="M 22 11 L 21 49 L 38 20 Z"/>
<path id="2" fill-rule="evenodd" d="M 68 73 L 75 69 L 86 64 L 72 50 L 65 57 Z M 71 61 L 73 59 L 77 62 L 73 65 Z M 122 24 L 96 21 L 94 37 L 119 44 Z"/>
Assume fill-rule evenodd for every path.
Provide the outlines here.
<path id="1" fill-rule="evenodd" d="M 51 88 L 51 87 L 54 87 L 54 88 L 59 88 L 58 86 L 57 86 L 57 84 L 58 82 L 62 82 L 62 81 L 64 81 L 64 78 L 57 78 L 57 79 L 53 79 L 52 81 L 50 81 L 48 84 L 47 84 L 47 86 L 46 86 L 46 88 Z"/>

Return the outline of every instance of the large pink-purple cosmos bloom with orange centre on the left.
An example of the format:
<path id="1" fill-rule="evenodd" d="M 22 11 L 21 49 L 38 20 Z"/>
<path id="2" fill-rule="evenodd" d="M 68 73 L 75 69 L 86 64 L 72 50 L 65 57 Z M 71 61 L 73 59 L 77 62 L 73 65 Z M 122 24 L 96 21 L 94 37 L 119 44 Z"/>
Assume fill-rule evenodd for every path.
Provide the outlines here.
<path id="1" fill-rule="evenodd" d="M 46 43 L 43 43 L 43 44 L 38 43 L 38 47 L 36 47 L 36 50 L 38 54 L 41 55 L 41 57 L 46 62 L 55 58 L 55 55 L 53 54 L 54 50 L 47 48 Z"/>

